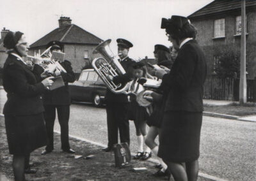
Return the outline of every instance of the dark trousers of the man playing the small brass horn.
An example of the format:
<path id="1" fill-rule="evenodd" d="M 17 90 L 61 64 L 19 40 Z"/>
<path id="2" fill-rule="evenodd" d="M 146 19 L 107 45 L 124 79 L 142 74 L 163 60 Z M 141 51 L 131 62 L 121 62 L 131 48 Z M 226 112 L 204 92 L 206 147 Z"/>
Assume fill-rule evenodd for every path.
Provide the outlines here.
<path id="1" fill-rule="evenodd" d="M 45 148 L 47 151 L 53 150 L 53 127 L 54 121 L 56 117 L 56 110 L 58 113 L 58 120 L 60 123 L 61 130 L 61 149 L 68 150 L 70 149 L 70 145 L 68 142 L 68 120 L 69 120 L 69 105 L 44 105 L 44 119 L 45 119 L 45 127 L 47 131 L 48 143 Z"/>

